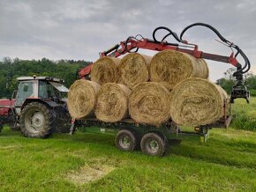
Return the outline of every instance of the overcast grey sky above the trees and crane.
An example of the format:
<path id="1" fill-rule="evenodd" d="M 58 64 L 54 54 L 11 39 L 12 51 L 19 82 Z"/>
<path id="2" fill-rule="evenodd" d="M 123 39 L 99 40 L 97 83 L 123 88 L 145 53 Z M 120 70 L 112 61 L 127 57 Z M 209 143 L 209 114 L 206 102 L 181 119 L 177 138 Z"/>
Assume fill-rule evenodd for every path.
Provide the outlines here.
<path id="1" fill-rule="evenodd" d="M 99 52 L 128 36 L 139 33 L 152 39 L 157 26 L 167 26 L 179 34 L 196 22 L 214 26 L 243 49 L 256 74 L 255 0 L 0 0 L 0 59 L 46 57 L 94 62 Z M 231 53 L 207 28 L 192 28 L 184 39 L 198 44 L 204 52 Z M 168 41 L 176 42 L 173 38 Z M 207 63 L 213 81 L 232 67 Z"/>

